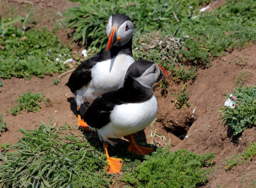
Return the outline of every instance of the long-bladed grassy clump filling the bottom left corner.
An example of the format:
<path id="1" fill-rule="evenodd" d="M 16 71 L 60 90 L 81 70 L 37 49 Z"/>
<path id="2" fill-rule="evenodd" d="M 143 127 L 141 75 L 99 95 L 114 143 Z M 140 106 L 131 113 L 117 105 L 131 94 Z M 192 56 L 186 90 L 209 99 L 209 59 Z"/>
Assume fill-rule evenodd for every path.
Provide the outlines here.
<path id="1" fill-rule="evenodd" d="M 105 155 L 68 126 L 46 124 L 0 152 L 0 187 L 108 187 Z"/>

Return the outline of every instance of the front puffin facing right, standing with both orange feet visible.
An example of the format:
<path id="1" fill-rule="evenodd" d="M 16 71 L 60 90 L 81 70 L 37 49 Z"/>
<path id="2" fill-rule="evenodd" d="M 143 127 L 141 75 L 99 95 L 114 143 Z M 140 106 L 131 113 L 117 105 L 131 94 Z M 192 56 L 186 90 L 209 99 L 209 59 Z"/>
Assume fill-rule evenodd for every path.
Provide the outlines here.
<path id="1" fill-rule="evenodd" d="M 136 145 L 132 134 L 145 129 L 156 117 L 157 100 L 152 86 L 166 76 L 166 71 L 155 62 L 138 60 L 127 69 L 123 87 L 100 95 L 90 106 L 81 105 L 81 118 L 103 142 L 108 173 L 120 173 L 123 163 L 122 159 L 109 157 L 108 143 L 116 144 L 111 138 L 128 136 L 127 150 L 137 155 L 153 151 Z"/>

